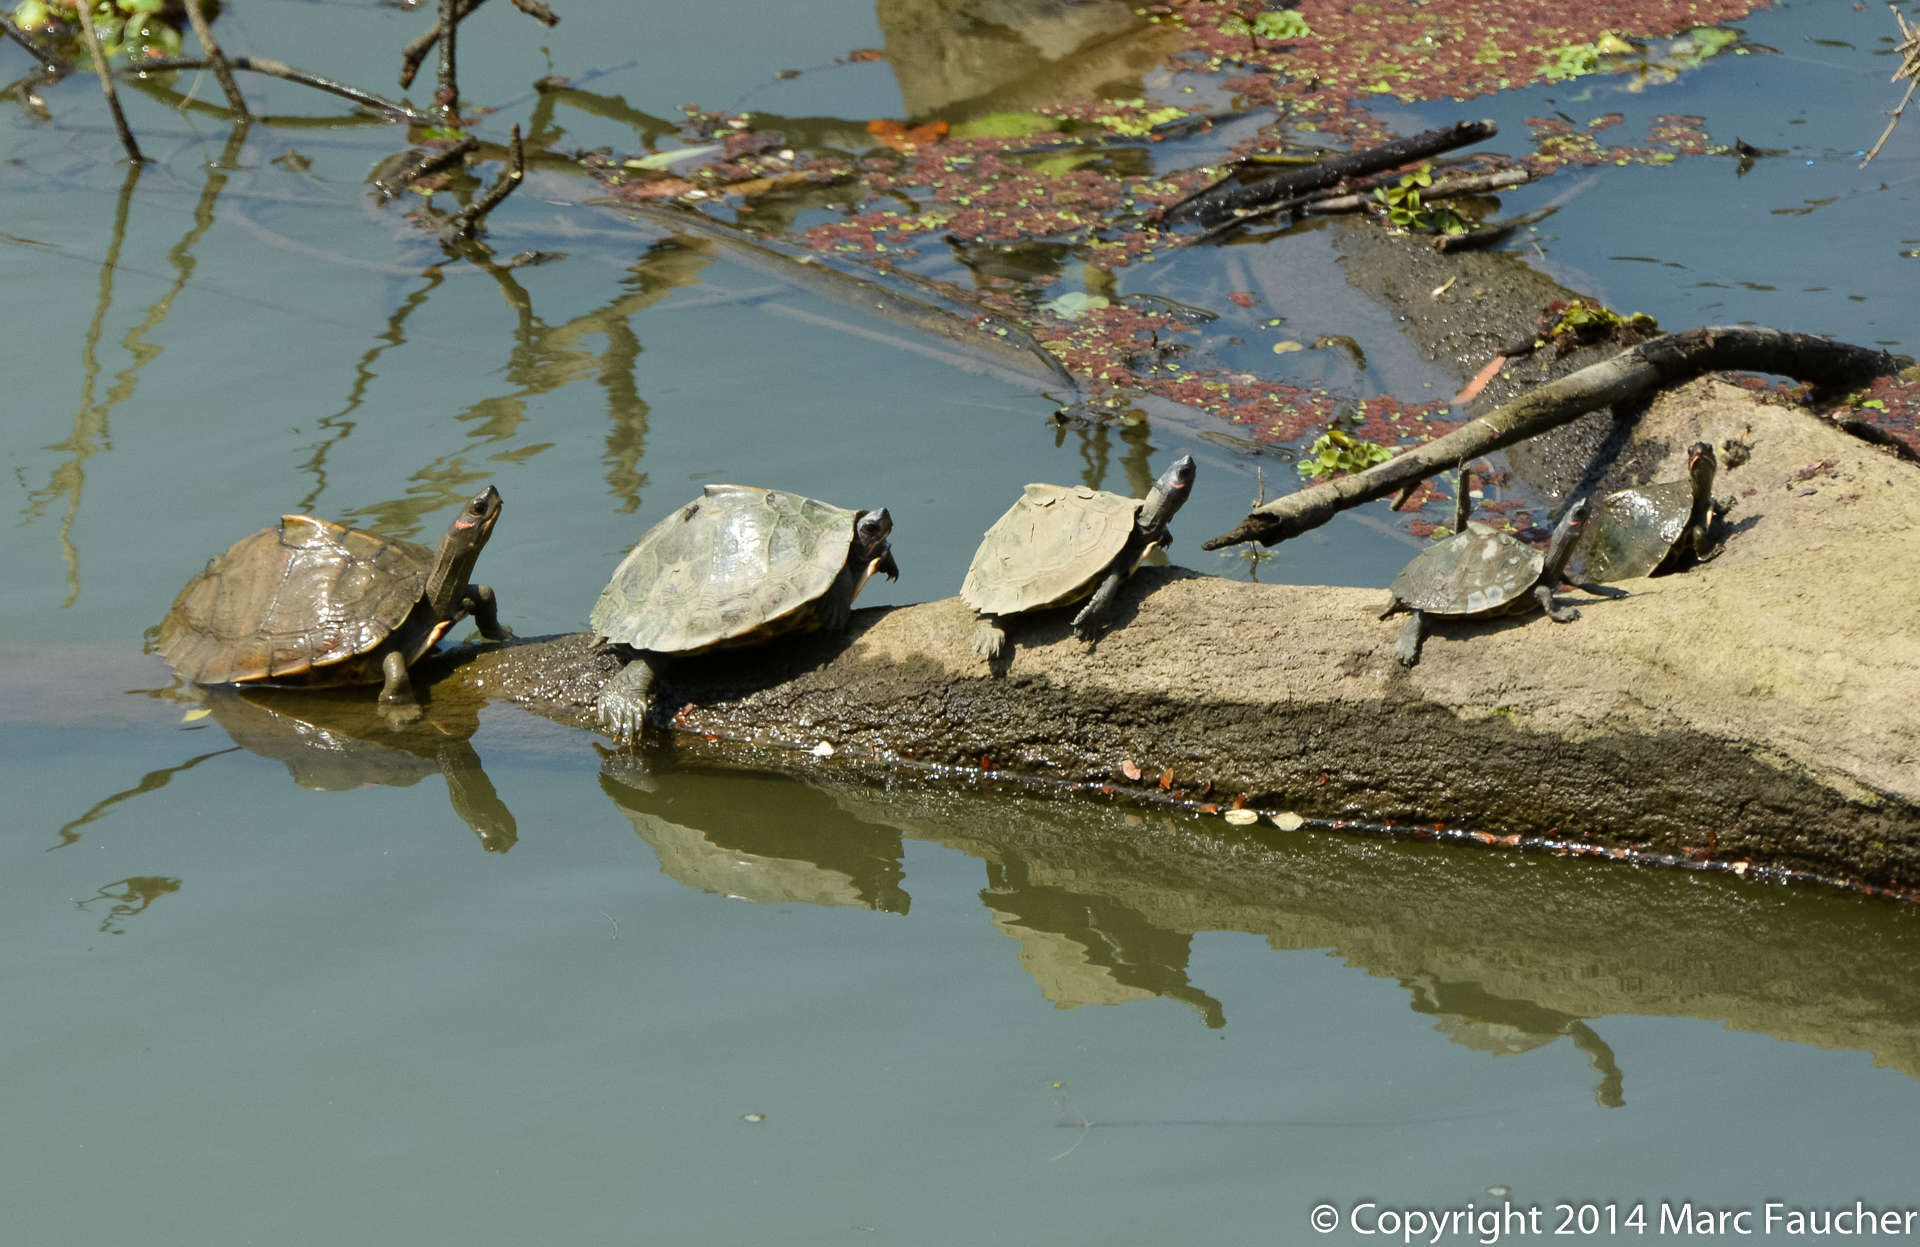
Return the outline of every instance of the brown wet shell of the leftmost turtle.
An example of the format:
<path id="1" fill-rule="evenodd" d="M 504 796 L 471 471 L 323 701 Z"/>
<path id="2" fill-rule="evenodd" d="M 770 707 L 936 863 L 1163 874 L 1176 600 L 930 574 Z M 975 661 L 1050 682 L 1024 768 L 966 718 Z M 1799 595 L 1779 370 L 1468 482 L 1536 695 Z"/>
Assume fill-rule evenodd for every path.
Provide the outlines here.
<path id="1" fill-rule="evenodd" d="M 367 661 L 426 592 L 434 551 L 311 515 L 240 538 L 186 582 L 159 655 L 196 684 L 367 684 Z M 447 623 L 409 638 L 407 663 Z"/>

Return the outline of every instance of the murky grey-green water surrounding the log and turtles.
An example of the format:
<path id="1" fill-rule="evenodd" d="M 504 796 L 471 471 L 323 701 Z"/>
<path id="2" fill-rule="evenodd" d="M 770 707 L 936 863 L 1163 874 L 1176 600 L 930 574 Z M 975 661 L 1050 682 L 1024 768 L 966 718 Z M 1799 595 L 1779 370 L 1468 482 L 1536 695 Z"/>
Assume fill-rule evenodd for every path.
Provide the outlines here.
<path id="1" fill-rule="evenodd" d="M 234 10 L 230 46 L 376 86 L 424 21 Z M 881 42 L 872 4 L 637 21 L 570 0 L 553 33 L 499 10 L 463 40 L 493 131 L 543 73 L 662 117 L 902 111 L 887 63 L 831 67 Z M 1889 27 L 1786 6 L 1745 27 L 1780 56 L 1469 111 L 1701 111 L 1786 148 L 1740 179 L 1603 171 L 1544 263 L 1668 325 L 1914 352 L 1920 123 L 1855 171 L 1893 102 Z M 440 705 L 369 746 L 334 699 L 303 751 L 267 719 L 290 703 L 186 717 L 142 630 L 286 509 L 430 540 L 492 480 L 482 578 L 538 634 L 582 626 L 626 546 L 710 480 L 887 505 L 904 575 L 870 601 L 904 603 L 954 592 L 1021 482 L 1137 490 L 1183 452 L 1202 486 L 1175 557 L 1246 575 L 1198 538 L 1254 469 L 1196 428 L 1060 436 L 1046 396 L 582 208 L 555 173 L 488 242 L 566 259 L 495 281 L 369 206 L 396 131 L 253 127 L 227 150 L 219 121 L 136 96 L 156 161 L 131 181 L 92 83 L 50 88 L 46 123 L 8 108 L 6 1241 L 1290 1243 L 1323 1201 L 1511 1199 L 1544 1230 L 1555 1203 L 1611 1201 L 1649 1235 L 1663 1201 L 1755 1230 L 1766 1201 L 1920 1205 L 1920 928 L 1885 905 L 697 759 L 636 774 L 509 707 Z M 618 117 L 557 115 L 568 142 L 637 146 Z M 311 163 L 273 163 L 288 150 Z M 1404 396 L 1446 384 L 1325 284 L 1319 234 L 1286 246 L 1233 248 L 1233 284 L 1200 261 L 1125 281 L 1265 281 L 1269 302 L 1319 281 L 1290 332 L 1365 340 Z M 1260 575 L 1382 584 L 1405 551 L 1361 515 Z"/>

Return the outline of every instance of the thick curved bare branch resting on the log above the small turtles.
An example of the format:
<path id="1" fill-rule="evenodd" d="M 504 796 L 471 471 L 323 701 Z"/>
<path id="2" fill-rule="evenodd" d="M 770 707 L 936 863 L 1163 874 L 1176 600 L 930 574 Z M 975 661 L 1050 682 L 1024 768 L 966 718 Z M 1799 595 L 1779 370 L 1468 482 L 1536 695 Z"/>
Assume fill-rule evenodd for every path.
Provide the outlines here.
<path id="1" fill-rule="evenodd" d="M 1755 325 L 1713 325 L 1667 334 L 1523 394 L 1463 428 L 1407 450 L 1379 467 L 1256 507 L 1238 528 L 1215 536 L 1202 550 L 1240 542 L 1273 546 L 1319 528 L 1348 507 L 1398 494 L 1463 459 L 1513 446 L 1588 411 L 1645 398 L 1661 386 L 1701 373 L 1745 369 L 1816 384 L 1847 384 L 1895 373 L 1910 363 L 1887 352 Z"/>

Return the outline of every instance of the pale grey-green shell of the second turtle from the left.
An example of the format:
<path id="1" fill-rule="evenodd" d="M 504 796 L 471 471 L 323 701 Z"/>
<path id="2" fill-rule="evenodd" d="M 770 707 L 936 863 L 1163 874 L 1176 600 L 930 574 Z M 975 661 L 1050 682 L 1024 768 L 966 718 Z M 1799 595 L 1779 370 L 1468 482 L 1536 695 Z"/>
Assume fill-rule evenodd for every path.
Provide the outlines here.
<path id="1" fill-rule="evenodd" d="M 749 646 L 820 624 L 820 599 L 847 567 L 860 511 L 708 484 L 634 544 L 589 624 L 655 653 Z"/>

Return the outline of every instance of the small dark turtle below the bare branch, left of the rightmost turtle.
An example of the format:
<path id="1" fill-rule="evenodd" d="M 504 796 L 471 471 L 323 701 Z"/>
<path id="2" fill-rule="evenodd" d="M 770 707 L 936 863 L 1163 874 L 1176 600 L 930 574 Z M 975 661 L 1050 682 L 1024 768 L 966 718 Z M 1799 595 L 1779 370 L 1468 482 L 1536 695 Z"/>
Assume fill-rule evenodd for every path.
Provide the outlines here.
<path id="1" fill-rule="evenodd" d="M 1580 526 L 1586 525 L 1588 500 L 1578 498 L 1567 507 L 1553 528 L 1548 551 L 1540 553 L 1498 528 L 1478 521 L 1467 523 L 1473 505 L 1467 482 L 1469 473 L 1461 471 L 1453 536 L 1419 551 L 1400 569 L 1392 598 L 1380 611 L 1380 619 L 1394 611 L 1413 611 L 1394 646 L 1394 657 L 1402 667 L 1421 661 L 1421 636 L 1428 619 L 1488 619 L 1536 609 L 1546 611 L 1553 623 L 1580 619 L 1578 607 L 1553 605 L 1553 590 L 1567 571 Z"/>

